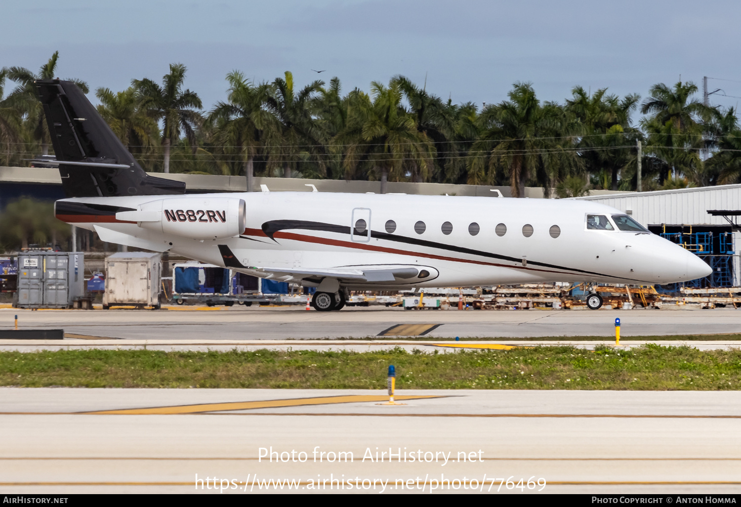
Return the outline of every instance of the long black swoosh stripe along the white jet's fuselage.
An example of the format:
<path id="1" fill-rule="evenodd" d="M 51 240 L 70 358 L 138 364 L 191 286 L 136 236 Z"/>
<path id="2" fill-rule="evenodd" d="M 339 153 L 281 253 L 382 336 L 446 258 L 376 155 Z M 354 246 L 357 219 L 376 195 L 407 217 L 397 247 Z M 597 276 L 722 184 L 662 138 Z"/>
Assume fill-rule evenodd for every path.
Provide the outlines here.
<path id="1" fill-rule="evenodd" d="M 341 234 L 350 234 L 350 227 L 346 225 L 326 224 L 323 222 L 309 222 L 307 220 L 270 220 L 270 222 L 265 222 L 264 224 L 262 224 L 262 231 L 270 239 L 273 239 L 273 241 L 275 241 L 275 238 L 273 238 L 273 234 L 275 234 L 278 231 L 285 231 L 288 229 L 298 229 L 298 230 L 306 230 L 306 231 L 325 231 L 325 232 L 335 232 L 335 233 L 341 233 Z M 517 257 L 501 255 L 499 253 L 491 253 L 491 252 L 473 250 L 471 248 L 464 248 L 464 247 L 459 247 L 456 245 L 446 245 L 445 243 L 428 241 L 426 239 L 411 238 L 408 236 L 397 236 L 395 234 L 389 234 L 389 233 L 379 232 L 379 231 L 371 231 L 371 237 L 375 237 L 378 239 L 386 239 L 388 241 L 393 241 L 393 242 L 405 243 L 407 245 L 416 245 L 416 246 L 423 246 L 423 247 L 428 247 L 428 248 L 439 248 L 440 250 L 446 250 L 446 251 L 451 251 L 451 252 L 456 252 L 456 253 L 467 253 L 468 255 L 488 257 L 489 259 L 498 259 L 498 260 L 504 260 L 504 261 L 509 261 L 509 262 L 522 262 L 522 259 L 518 259 Z M 623 276 L 614 276 L 614 275 L 608 275 L 604 273 L 596 273 L 594 271 L 586 271 L 586 270 L 577 269 L 577 268 L 567 268 L 565 266 L 548 264 L 547 262 L 531 261 L 529 259 L 528 259 L 528 264 L 541 266 L 543 268 L 554 268 L 554 269 L 560 269 L 564 271 L 575 271 L 576 273 L 590 274 L 590 275 L 596 275 L 596 276 L 608 276 L 610 278 L 619 278 L 619 279 L 631 280 L 631 281 L 633 280 L 631 278 L 625 278 Z"/>

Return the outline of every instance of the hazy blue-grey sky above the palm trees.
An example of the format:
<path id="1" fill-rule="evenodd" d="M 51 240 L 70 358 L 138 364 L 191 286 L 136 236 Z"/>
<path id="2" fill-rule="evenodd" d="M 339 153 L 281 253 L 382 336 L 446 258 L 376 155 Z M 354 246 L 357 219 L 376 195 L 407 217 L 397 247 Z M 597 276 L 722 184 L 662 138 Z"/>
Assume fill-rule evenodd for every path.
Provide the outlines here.
<path id="1" fill-rule="evenodd" d="M 645 97 L 680 75 L 741 97 L 737 1 L 41 0 L 4 1 L 0 14 L 0 67 L 36 71 L 59 50 L 59 77 L 116 91 L 181 62 L 205 107 L 234 69 L 256 82 L 291 70 L 301 86 L 338 76 L 345 92 L 426 76 L 432 93 L 478 105 L 517 81 L 562 102 L 576 84 Z"/>

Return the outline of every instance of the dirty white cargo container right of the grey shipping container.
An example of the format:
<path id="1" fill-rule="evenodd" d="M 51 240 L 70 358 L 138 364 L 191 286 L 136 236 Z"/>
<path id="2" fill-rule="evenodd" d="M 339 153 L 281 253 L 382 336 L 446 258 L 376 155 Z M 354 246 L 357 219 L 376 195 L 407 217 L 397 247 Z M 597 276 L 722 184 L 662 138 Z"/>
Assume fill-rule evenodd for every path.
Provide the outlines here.
<path id="1" fill-rule="evenodd" d="M 105 259 L 103 309 L 113 305 L 159 309 L 162 253 L 119 252 Z"/>

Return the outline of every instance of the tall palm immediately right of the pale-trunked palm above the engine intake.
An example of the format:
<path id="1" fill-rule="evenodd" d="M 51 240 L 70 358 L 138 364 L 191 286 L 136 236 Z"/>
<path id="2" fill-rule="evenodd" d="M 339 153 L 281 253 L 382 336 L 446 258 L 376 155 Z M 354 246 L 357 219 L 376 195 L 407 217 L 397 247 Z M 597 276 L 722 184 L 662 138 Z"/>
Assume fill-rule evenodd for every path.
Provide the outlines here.
<path id="1" fill-rule="evenodd" d="M 290 178 L 291 170 L 297 169 L 299 162 L 308 159 L 308 154 L 322 151 L 319 142 L 322 135 L 319 125 L 311 116 L 311 102 L 324 84 L 317 80 L 294 93 L 293 74 L 288 71 L 285 79 L 276 78 L 270 84 L 266 105 L 282 125 L 282 142 L 279 146 L 271 147 L 270 158 L 282 164 L 285 178 Z M 323 167 L 323 157 L 319 158 L 319 164 Z"/>

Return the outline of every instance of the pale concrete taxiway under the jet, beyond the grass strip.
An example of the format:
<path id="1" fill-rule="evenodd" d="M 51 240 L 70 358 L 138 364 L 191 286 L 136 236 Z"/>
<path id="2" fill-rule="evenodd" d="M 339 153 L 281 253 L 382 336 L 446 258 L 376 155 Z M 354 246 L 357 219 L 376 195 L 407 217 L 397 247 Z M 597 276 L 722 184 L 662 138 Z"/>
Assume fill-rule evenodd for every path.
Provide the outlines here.
<path id="1" fill-rule="evenodd" d="M 170 310 L 17 310 L 0 309 L 0 328 L 64 328 L 70 334 L 118 339 L 319 339 L 377 337 L 395 325 L 427 338 L 611 337 L 614 319 L 622 337 L 728 334 L 741 331 L 741 310 L 521 310 L 404 311 L 396 308 L 345 308 L 336 312 L 299 307 L 173 307 Z M 425 326 L 422 326 L 425 328 Z M 411 332 L 415 330 L 414 332 Z M 394 336 L 405 336 L 396 334 Z"/>

